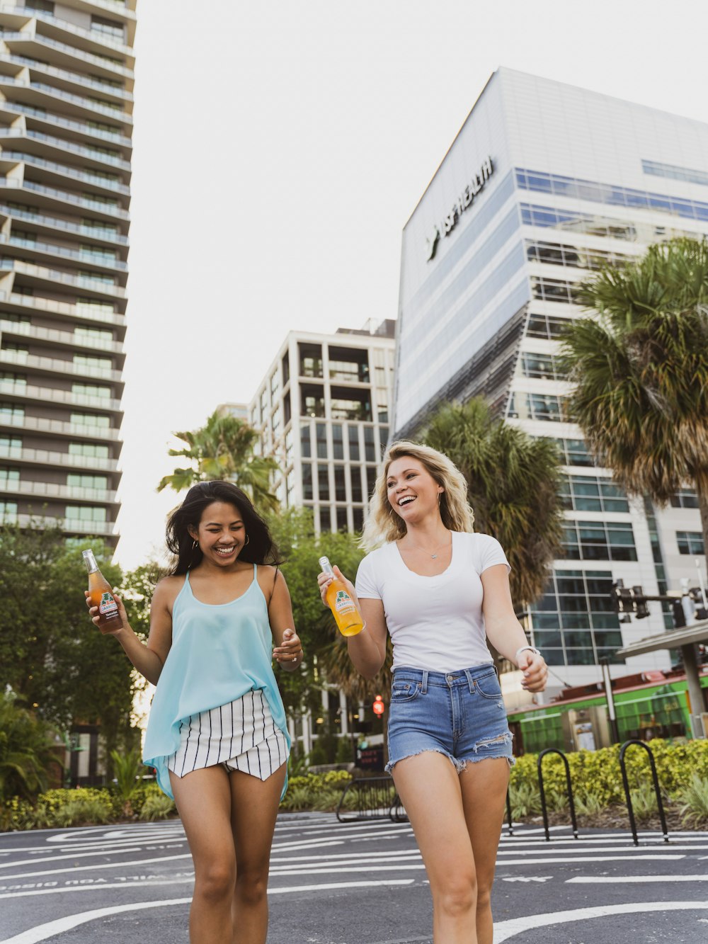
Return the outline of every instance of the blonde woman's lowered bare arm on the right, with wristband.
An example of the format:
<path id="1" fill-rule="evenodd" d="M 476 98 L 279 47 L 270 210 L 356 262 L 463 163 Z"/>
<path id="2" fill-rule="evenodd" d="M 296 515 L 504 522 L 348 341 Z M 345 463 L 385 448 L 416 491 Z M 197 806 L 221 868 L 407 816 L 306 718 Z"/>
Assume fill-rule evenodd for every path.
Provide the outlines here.
<path id="1" fill-rule="evenodd" d="M 487 567 L 482 571 L 480 580 L 484 592 L 481 608 L 489 640 L 497 652 L 523 671 L 524 681 L 521 684 L 524 688 L 530 692 L 542 692 L 548 679 L 548 669 L 543 656 L 536 655 L 530 649 L 524 649 L 519 652 L 518 663 L 516 662 L 516 652 L 529 643 L 514 614 L 506 565 Z"/>

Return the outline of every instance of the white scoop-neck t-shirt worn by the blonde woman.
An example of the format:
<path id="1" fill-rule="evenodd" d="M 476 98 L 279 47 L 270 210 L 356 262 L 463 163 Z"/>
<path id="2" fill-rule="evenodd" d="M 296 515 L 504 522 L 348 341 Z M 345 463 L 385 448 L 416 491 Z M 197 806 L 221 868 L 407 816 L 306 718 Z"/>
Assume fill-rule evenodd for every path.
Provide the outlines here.
<path id="1" fill-rule="evenodd" d="M 357 596 L 383 602 L 394 668 L 451 672 L 493 661 L 485 642 L 480 574 L 496 564 L 511 570 L 497 539 L 463 531 L 452 531 L 450 565 L 435 577 L 409 570 L 396 542 L 364 557 Z"/>

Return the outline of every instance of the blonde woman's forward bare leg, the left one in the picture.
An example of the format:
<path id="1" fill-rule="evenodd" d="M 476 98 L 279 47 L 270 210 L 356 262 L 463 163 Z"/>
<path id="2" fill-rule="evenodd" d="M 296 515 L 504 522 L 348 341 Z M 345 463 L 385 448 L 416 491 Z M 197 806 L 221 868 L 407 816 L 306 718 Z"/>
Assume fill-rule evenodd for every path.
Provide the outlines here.
<path id="1" fill-rule="evenodd" d="M 475 860 L 455 767 L 429 750 L 398 761 L 393 777 L 430 880 L 433 941 L 478 944 Z"/>

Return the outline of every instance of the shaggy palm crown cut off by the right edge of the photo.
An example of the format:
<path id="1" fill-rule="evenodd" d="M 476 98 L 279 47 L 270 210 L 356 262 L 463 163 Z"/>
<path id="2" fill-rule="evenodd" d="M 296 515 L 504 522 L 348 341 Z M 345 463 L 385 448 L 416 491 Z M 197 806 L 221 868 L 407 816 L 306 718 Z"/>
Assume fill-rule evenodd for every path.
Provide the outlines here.
<path id="1" fill-rule="evenodd" d="M 652 245 L 579 299 L 594 314 L 565 333 L 568 415 L 631 495 L 693 484 L 708 548 L 708 243 Z"/>

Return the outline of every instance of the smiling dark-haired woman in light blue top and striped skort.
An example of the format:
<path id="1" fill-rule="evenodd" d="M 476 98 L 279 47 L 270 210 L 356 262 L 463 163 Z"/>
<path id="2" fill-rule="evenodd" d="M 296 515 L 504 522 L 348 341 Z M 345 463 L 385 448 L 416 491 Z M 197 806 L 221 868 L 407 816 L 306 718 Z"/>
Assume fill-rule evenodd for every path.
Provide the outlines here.
<path id="1" fill-rule="evenodd" d="M 174 797 L 194 858 L 190 940 L 263 944 L 290 751 L 272 659 L 289 671 L 302 661 L 290 595 L 267 525 L 230 482 L 189 490 L 167 546 L 177 563 L 155 589 L 147 643 L 118 597 L 124 628 L 112 634 L 157 685 L 143 760 Z"/>

